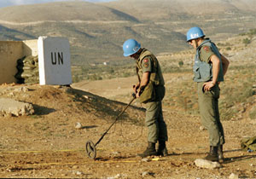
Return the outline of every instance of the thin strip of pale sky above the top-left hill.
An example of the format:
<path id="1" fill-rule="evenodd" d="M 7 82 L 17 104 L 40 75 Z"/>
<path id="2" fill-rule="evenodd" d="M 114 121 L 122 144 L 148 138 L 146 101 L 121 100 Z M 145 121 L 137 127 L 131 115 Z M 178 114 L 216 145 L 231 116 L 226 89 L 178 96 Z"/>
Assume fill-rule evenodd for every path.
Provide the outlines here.
<path id="1" fill-rule="evenodd" d="M 49 2 L 60 2 L 68 0 L 0 0 L 0 8 L 15 5 L 33 4 L 33 3 L 49 3 Z M 72 1 L 72 0 L 69 0 Z M 87 1 L 87 2 L 109 2 L 112 0 L 73 0 L 73 1 Z"/>

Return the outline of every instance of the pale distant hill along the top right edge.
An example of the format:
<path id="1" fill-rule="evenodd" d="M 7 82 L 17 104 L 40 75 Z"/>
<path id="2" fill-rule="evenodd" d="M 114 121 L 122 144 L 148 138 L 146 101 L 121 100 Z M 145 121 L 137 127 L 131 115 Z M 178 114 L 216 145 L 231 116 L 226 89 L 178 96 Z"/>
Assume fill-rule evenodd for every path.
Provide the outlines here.
<path id="1" fill-rule="evenodd" d="M 173 20 L 180 15 L 256 12 L 254 0 L 119 0 L 107 5 L 143 20 Z"/>

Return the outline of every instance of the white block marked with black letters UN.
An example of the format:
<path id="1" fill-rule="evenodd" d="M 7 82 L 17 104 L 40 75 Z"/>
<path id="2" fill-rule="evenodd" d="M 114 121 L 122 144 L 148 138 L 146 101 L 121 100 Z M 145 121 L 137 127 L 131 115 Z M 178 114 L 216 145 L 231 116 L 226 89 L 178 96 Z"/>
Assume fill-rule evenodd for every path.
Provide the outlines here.
<path id="1" fill-rule="evenodd" d="M 38 66 L 41 85 L 72 84 L 68 39 L 39 37 Z"/>

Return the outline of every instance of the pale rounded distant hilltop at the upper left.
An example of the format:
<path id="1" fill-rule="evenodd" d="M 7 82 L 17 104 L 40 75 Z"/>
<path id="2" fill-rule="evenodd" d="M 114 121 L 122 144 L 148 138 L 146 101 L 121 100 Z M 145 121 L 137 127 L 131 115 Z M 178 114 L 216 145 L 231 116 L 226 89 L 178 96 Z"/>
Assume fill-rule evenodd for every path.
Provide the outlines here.
<path id="1" fill-rule="evenodd" d="M 128 20 L 135 17 L 96 3 L 58 2 L 12 6 L 0 9 L 0 20 L 25 23 L 48 20 Z"/>

